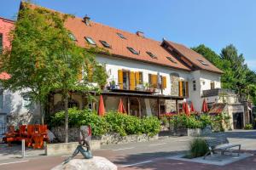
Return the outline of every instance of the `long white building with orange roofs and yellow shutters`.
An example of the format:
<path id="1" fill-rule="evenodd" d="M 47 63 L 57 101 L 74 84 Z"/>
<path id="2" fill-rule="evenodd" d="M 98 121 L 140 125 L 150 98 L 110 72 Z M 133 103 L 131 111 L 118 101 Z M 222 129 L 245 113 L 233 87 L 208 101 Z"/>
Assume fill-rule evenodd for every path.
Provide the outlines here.
<path id="1" fill-rule="evenodd" d="M 107 111 L 117 110 L 119 99 L 123 99 L 126 112 L 134 116 L 179 112 L 183 101 L 193 102 L 195 110 L 201 111 L 203 90 L 221 88 L 223 72 L 181 44 L 155 41 L 142 31 L 131 33 L 104 26 L 88 16 L 69 18 L 65 26 L 80 47 L 108 50 L 96 54 L 109 76 L 102 91 Z M 51 94 L 49 103 L 50 113 L 60 111 L 61 94 Z M 97 103 L 89 103 L 86 96 L 76 93 L 69 105 L 80 109 L 89 105 L 97 110 Z"/>

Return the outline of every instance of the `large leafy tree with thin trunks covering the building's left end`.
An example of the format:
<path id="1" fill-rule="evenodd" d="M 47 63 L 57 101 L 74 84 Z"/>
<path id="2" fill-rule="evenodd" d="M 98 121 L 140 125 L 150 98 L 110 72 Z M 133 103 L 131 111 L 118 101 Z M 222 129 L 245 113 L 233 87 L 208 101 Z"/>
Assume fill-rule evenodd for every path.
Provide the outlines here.
<path id="1" fill-rule="evenodd" d="M 32 8 L 30 3 L 22 3 L 15 31 L 10 35 L 12 49 L 1 55 L 1 70 L 11 75 L 8 81 L 3 82 L 4 87 L 29 89 L 33 99 L 40 103 L 42 122 L 48 94 L 57 89 L 61 91 L 65 107 L 66 142 L 69 92 L 75 90 L 90 94 L 90 90 L 99 88 L 87 81 L 89 74 L 84 74 L 84 81 L 81 81 L 79 75 L 82 68 L 95 75 L 94 82 L 102 82 L 107 75 L 95 60 L 96 49 L 80 48 L 70 37 L 71 32 L 64 26 L 68 17 L 73 16 L 45 8 Z M 102 74 L 94 74 L 94 71 L 102 71 Z"/>

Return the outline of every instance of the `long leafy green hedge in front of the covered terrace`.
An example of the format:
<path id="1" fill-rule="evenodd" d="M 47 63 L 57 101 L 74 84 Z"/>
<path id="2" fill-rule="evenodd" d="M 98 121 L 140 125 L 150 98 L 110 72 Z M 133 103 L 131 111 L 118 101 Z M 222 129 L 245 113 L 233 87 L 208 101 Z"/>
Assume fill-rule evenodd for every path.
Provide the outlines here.
<path id="1" fill-rule="evenodd" d="M 68 110 L 69 127 L 79 127 L 81 125 L 90 125 L 92 134 L 100 136 L 105 133 L 119 133 L 121 136 L 130 134 L 147 133 L 154 136 L 160 132 L 160 121 L 157 117 L 150 116 L 138 118 L 129 116 L 116 111 L 109 111 L 105 116 L 97 116 L 96 112 L 76 108 Z M 65 122 L 64 111 L 58 112 L 51 117 L 51 127 L 63 126 Z"/>

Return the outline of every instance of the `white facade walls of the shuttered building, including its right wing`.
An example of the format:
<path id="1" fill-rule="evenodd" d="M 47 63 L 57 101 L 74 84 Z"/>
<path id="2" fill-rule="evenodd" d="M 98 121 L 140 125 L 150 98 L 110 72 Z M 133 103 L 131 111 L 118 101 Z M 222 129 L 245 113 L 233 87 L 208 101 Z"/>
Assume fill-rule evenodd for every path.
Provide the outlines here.
<path id="1" fill-rule="evenodd" d="M 180 80 L 189 82 L 189 98 L 188 101 L 192 101 L 195 110 L 201 111 L 201 105 L 203 99 L 201 99 L 201 94 L 203 90 L 211 89 L 211 82 L 215 83 L 215 88 L 221 88 L 220 74 L 207 72 L 207 71 L 182 71 L 177 69 L 172 69 L 169 67 L 164 67 L 160 65 L 150 65 L 148 63 L 143 63 L 140 61 L 134 61 L 131 59 L 119 59 L 114 57 L 109 57 L 105 55 L 97 55 L 96 60 L 106 65 L 106 71 L 108 72 L 108 82 L 112 80 L 118 82 L 118 70 L 125 69 L 129 71 L 142 71 L 143 72 L 143 82 L 148 82 L 148 74 L 160 73 L 161 76 L 166 77 L 166 89 L 163 94 L 171 94 L 171 77 L 172 73 L 177 73 Z M 193 89 L 193 81 L 196 82 L 196 90 Z"/>

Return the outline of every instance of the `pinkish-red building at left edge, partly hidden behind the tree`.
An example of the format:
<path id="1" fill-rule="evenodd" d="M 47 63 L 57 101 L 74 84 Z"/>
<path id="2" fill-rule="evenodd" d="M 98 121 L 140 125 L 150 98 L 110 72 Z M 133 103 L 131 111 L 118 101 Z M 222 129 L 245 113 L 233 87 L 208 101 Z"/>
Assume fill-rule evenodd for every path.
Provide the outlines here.
<path id="1" fill-rule="evenodd" d="M 11 48 L 9 42 L 9 32 L 14 29 L 14 20 L 0 17 L 0 53 L 5 48 Z M 8 79 L 9 74 L 0 73 L 0 79 Z M 6 130 L 7 124 L 18 125 L 20 123 L 37 122 L 36 108 L 28 108 L 30 98 L 26 90 L 11 92 L 3 90 L 0 86 L 0 139 Z M 33 113 L 33 114 L 32 114 Z"/>

